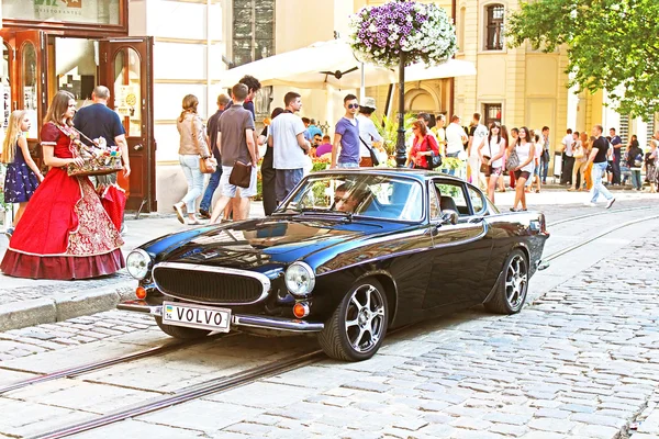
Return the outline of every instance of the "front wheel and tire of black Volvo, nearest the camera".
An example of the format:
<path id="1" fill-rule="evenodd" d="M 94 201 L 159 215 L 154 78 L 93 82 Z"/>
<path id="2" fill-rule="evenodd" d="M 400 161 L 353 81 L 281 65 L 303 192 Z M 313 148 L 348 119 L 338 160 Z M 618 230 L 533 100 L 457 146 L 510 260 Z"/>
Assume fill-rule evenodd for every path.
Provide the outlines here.
<path id="1" fill-rule="evenodd" d="M 319 342 L 328 357 L 343 361 L 371 358 L 380 346 L 389 322 L 384 289 L 373 278 L 355 283 L 340 301 Z"/>

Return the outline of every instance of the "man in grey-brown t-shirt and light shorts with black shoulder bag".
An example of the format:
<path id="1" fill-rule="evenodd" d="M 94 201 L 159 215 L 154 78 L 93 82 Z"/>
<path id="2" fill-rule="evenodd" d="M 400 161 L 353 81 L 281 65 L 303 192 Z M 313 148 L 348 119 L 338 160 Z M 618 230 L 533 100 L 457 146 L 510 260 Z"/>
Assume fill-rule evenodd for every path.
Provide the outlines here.
<path id="1" fill-rule="evenodd" d="M 236 161 L 244 165 L 250 164 L 252 173 L 249 185 L 241 188 L 239 203 L 237 209 L 234 206 L 233 211 L 234 219 L 245 219 L 249 216 L 249 199 L 256 195 L 258 153 L 254 136 L 254 119 L 249 110 L 243 108 L 247 95 L 247 86 L 241 82 L 236 83 L 232 88 L 233 105 L 225 110 L 217 121 L 217 149 L 220 150 L 220 157 L 222 157 L 222 177 L 220 179 L 222 196 L 213 206 L 211 224 L 217 222 L 224 207 L 236 196 L 236 185 L 230 183 L 231 173 Z"/>

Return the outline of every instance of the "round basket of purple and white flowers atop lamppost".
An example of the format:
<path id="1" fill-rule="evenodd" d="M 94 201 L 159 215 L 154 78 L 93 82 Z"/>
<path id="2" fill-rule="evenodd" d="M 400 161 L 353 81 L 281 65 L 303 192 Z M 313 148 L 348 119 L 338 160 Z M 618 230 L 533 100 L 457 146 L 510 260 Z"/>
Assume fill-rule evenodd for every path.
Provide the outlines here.
<path id="1" fill-rule="evenodd" d="M 456 29 L 443 8 L 434 3 L 392 0 L 365 7 L 350 16 L 349 43 L 356 56 L 383 67 L 437 65 L 457 50 Z"/>

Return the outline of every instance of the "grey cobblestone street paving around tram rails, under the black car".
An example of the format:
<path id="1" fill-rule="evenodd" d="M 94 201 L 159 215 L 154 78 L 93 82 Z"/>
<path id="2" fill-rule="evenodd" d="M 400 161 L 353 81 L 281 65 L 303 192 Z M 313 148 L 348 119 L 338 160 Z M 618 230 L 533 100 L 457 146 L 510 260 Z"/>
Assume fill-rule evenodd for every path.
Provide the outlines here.
<path id="1" fill-rule="evenodd" d="M 593 212 L 544 210 L 549 223 Z M 652 214 L 558 225 L 545 255 Z M 656 438 L 658 246 L 656 219 L 623 228 L 538 273 L 520 314 L 476 307 L 391 334 L 369 361 L 324 360 L 76 437 Z M 168 340 L 150 317 L 119 311 L 0 333 L 0 384 Z M 313 338 L 236 335 L 34 384 L 1 395 L 0 437 L 30 437 L 314 348 Z"/>

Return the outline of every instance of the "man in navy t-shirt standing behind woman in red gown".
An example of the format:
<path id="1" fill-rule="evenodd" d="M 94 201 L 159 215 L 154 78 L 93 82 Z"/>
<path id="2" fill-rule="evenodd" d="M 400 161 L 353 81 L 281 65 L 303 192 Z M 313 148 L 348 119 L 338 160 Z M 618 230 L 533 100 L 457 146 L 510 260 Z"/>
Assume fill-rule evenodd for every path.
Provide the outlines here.
<path id="1" fill-rule="evenodd" d="M 92 104 L 82 106 L 74 116 L 74 126 L 85 136 L 81 142 L 91 146 L 92 140 L 99 138 L 105 139 L 108 146 L 119 146 L 121 149 L 121 160 L 123 162 L 123 176 L 127 178 L 131 175 L 131 159 L 129 155 L 129 144 L 126 142 L 126 132 L 121 123 L 116 112 L 108 108 L 110 90 L 105 86 L 97 86 L 91 92 Z M 116 184 L 116 172 L 107 176 L 96 176 L 98 187 Z M 122 217 L 121 233 L 125 233 L 125 224 Z"/>

